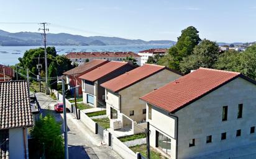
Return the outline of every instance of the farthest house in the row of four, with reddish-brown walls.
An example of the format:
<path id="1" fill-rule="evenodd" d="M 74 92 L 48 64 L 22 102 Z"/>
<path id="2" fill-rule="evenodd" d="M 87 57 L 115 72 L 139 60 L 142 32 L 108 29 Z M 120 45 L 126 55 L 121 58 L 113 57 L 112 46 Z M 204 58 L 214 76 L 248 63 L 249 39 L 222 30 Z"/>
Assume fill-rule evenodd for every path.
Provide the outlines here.
<path id="1" fill-rule="evenodd" d="M 78 67 L 75 67 L 73 69 L 70 69 L 69 71 L 66 71 L 63 73 L 63 75 L 66 76 L 66 84 L 68 84 L 68 87 L 76 87 L 78 85 L 82 85 L 82 81 L 79 78 L 81 75 L 86 74 L 89 71 L 92 71 L 93 69 L 96 69 L 99 66 L 102 66 L 103 64 L 106 64 L 107 60 L 105 59 L 93 59 L 89 62 L 85 62 L 85 64 L 81 64 Z M 76 88 L 76 95 L 82 96 L 82 88 L 78 87 Z"/>

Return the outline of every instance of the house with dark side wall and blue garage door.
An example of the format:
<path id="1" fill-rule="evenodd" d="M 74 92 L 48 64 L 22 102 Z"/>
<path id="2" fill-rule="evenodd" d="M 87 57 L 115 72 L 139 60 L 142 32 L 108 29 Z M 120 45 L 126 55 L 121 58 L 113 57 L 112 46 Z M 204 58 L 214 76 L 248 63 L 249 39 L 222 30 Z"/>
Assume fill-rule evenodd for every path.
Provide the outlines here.
<path id="1" fill-rule="evenodd" d="M 110 61 L 81 75 L 79 78 L 82 81 L 83 102 L 94 107 L 105 107 L 105 88 L 101 84 L 135 67 L 137 66 L 129 62 Z"/>

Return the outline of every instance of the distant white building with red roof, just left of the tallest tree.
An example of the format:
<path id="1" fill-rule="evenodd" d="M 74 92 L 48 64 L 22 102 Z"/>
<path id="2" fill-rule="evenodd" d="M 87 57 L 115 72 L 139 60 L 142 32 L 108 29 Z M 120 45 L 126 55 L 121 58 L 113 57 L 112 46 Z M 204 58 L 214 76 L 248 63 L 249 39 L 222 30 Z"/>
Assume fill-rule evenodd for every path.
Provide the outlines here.
<path id="1" fill-rule="evenodd" d="M 155 56 L 156 54 L 165 54 L 167 52 L 167 49 L 145 49 L 143 51 L 139 51 L 139 56 L 141 56 L 140 58 L 140 64 L 141 66 L 143 66 L 146 62 L 147 62 L 147 59 L 149 59 L 149 56 Z"/>

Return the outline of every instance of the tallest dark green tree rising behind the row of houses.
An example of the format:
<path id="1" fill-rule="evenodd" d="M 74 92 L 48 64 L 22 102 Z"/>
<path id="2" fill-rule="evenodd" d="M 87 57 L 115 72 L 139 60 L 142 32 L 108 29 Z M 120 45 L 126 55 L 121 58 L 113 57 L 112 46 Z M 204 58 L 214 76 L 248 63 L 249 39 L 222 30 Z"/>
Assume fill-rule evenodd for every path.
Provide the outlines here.
<path id="1" fill-rule="evenodd" d="M 176 45 L 172 46 L 168 50 L 168 54 L 170 54 L 172 57 L 161 59 L 160 64 L 168 63 L 168 66 L 171 69 L 176 69 L 179 71 L 180 62 L 183 60 L 183 58 L 192 54 L 194 46 L 198 45 L 199 41 L 201 41 L 198 33 L 199 33 L 198 30 L 196 30 L 196 28 L 193 26 L 190 26 L 182 30 L 181 36 L 178 37 L 178 41 Z M 171 59 L 171 61 L 163 61 L 163 60 L 169 60 L 169 59 Z"/>

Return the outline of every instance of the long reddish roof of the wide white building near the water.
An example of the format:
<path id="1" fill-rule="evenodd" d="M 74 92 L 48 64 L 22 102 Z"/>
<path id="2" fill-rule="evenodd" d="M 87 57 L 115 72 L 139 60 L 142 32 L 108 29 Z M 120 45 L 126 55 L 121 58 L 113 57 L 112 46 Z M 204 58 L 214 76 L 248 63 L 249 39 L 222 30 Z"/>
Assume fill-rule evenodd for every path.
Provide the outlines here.
<path id="1" fill-rule="evenodd" d="M 71 52 L 66 54 L 68 59 L 79 58 L 126 58 L 126 57 L 140 57 L 139 54 L 134 52 Z"/>

